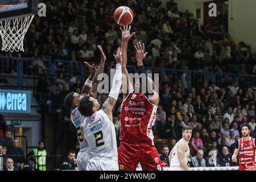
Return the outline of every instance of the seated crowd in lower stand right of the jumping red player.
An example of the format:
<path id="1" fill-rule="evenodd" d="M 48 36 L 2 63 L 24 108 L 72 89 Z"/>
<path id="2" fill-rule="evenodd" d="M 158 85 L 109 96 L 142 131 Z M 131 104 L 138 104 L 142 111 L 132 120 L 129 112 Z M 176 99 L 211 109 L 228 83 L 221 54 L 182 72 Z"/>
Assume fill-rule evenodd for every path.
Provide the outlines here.
<path id="1" fill-rule="evenodd" d="M 168 81 L 161 85 L 156 133 L 161 138 L 177 141 L 182 137 L 182 127 L 192 126 L 189 142 L 192 166 L 210 166 L 207 158 L 213 154 L 216 154 L 217 166 L 237 165 L 232 163 L 230 156 L 234 152 L 234 143 L 241 137 L 242 123 L 248 123 L 251 137 L 256 137 L 256 88 L 240 88 L 237 82 L 227 88 L 218 88 L 205 81 L 199 90 L 192 93 L 173 90 Z M 164 155 L 163 146 L 159 147 L 159 152 Z"/>

